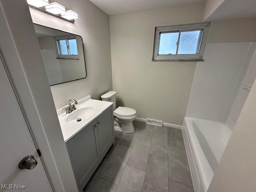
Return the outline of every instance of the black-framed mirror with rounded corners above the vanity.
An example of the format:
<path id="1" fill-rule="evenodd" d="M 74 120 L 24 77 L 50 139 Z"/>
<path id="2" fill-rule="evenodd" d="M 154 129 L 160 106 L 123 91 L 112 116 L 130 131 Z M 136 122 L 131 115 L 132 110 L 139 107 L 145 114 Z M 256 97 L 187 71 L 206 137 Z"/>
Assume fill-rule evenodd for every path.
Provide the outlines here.
<path id="1" fill-rule="evenodd" d="M 50 86 L 86 78 L 82 37 L 34 24 Z"/>

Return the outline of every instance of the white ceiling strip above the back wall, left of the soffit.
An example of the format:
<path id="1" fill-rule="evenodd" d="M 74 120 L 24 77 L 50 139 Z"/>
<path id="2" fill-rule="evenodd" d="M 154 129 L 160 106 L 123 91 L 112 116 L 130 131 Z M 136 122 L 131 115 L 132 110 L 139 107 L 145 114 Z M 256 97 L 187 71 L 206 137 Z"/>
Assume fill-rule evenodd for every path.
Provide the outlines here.
<path id="1" fill-rule="evenodd" d="M 90 0 L 109 15 L 205 2 L 205 0 Z"/>

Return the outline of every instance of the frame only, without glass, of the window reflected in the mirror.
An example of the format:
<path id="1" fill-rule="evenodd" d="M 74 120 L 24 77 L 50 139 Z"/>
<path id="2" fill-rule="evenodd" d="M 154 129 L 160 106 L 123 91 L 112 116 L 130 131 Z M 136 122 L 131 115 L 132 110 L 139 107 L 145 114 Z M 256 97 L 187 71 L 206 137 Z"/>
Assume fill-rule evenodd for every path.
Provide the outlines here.
<path id="1" fill-rule="evenodd" d="M 56 59 L 74 59 L 74 60 L 79 60 L 79 52 L 78 52 L 77 39 L 76 39 L 77 55 L 70 55 L 69 42 L 68 42 L 69 39 L 76 39 L 76 36 L 74 36 L 74 35 L 64 35 L 64 36 L 55 36 L 54 37 L 55 46 L 56 46 L 56 54 L 57 54 L 57 58 Z M 60 54 L 58 40 L 66 40 L 68 55 Z"/>

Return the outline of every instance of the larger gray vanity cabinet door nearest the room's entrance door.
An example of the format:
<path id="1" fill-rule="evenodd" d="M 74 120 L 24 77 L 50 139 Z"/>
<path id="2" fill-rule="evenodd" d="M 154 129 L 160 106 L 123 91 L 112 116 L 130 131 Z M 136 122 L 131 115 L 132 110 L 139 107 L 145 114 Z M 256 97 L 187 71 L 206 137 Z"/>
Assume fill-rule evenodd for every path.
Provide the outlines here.
<path id="1" fill-rule="evenodd" d="M 100 148 L 96 120 L 66 143 L 79 191 L 82 191 L 100 164 Z"/>

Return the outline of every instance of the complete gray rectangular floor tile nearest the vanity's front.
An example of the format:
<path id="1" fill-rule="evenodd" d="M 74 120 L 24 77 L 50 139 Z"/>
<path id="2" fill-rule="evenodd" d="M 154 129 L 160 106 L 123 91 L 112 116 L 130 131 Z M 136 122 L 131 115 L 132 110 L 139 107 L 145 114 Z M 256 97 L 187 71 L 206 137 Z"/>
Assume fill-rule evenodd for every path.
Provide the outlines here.
<path id="1" fill-rule="evenodd" d="M 130 148 L 116 145 L 99 177 L 118 185 L 131 150 Z"/>

